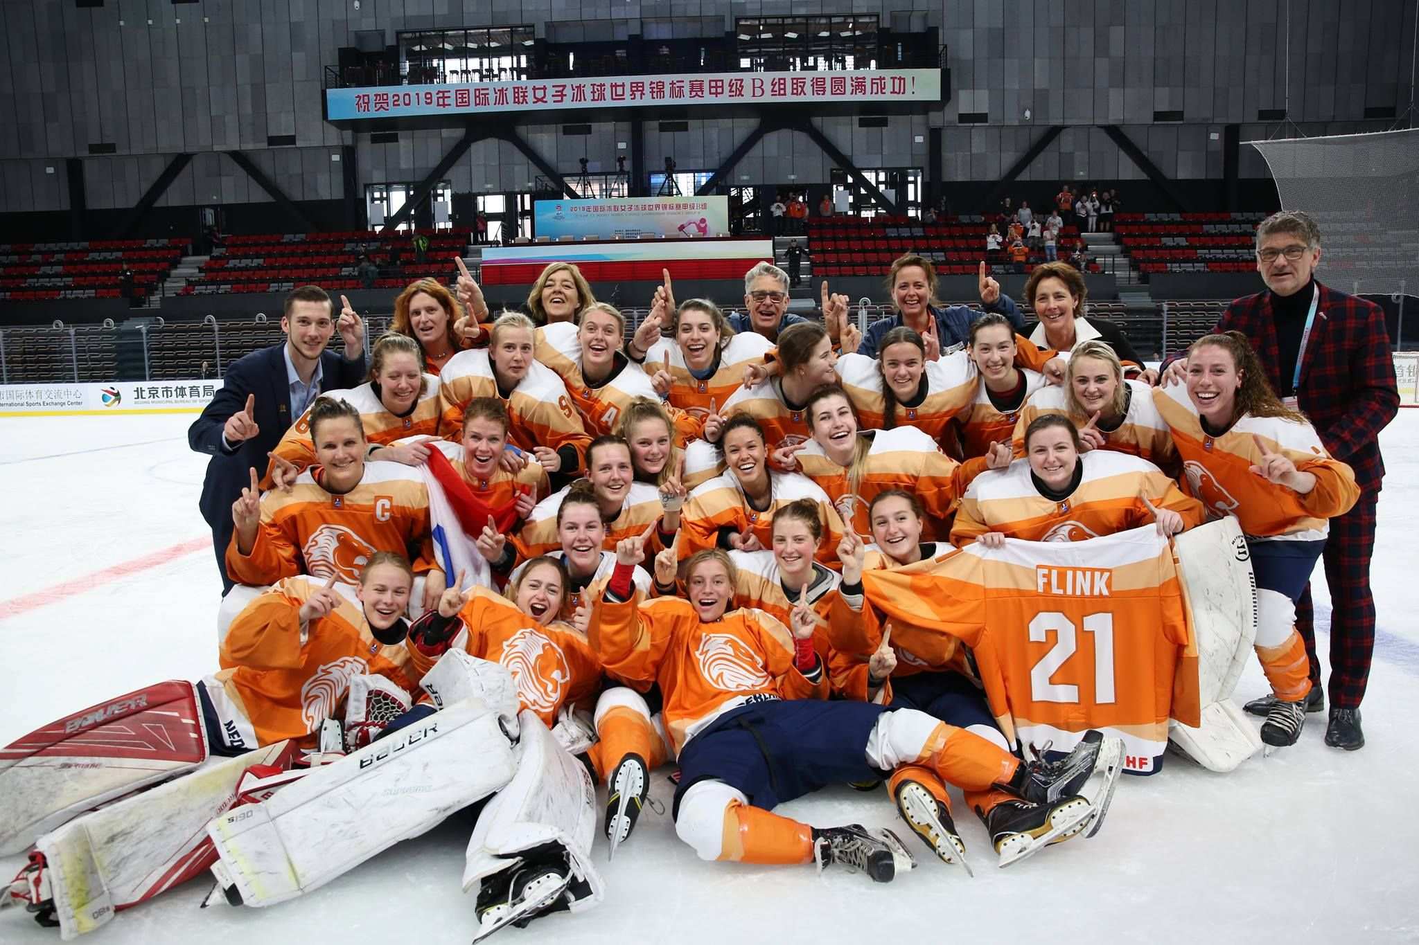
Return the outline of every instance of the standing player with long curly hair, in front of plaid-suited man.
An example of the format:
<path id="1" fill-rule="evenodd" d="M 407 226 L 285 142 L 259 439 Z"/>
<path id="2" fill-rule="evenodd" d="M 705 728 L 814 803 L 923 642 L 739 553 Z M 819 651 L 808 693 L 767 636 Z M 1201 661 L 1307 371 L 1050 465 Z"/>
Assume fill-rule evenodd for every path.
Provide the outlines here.
<path id="1" fill-rule="evenodd" d="M 1185 395 L 1183 395 L 1185 391 Z M 1240 332 L 1208 334 L 1188 350 L 1186 388 L 1154 391 L 1182 458 L 1188 492 L 1212 516 L 1236 516 L 1257 584 L 1256 653 L 1274 701 L 1261 741 L 1293 745 L 1311 681 L 1296 632 L 1296 601 L 1325 547 L 1327 519 L 1359 490 L 1305 415 L 1284 405 Z"/>

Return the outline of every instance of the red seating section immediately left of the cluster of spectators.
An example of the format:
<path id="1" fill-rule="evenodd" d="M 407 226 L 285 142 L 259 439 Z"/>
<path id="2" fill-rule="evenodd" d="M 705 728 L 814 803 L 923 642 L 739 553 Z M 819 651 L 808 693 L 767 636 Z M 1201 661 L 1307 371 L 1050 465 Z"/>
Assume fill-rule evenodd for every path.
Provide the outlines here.
<path id="1" fill-rule="evenodd" d="M 883 276 L 893 259 L 917 252 L 942 275 L 975 275 L 985 259 L 985 237 L 990 224 L 983 217 L 959 217 L 924 224 L 915 217 L 832 217 L 807 221 L 807 251 L 813 273 L 820 276 Z M 1078 227 L 1064 224 L 1060 258 L 1066 247 L 1078 242 Z M 1002 252 L 1003 261 L 1003 252 Z M 1044 252 L 1032 249 L 1025 272 L 1044 262 Z M 1100 272 L 1090 264 L 1090 272 Z"/>

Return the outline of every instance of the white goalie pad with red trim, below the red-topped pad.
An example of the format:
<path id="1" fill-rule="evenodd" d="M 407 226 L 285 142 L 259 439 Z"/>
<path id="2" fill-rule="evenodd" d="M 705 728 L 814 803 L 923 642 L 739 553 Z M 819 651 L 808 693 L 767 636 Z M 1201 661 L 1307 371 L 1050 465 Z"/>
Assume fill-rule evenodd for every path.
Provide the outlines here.
<path id="1" fill-rule="evenodd" d="M 213 761 L 40 837 L 62 938 L 92 932 L 116 910 L 206 871 L 216 860 L 207 822 L 250 789 L 243 776 L 253 766 L 287 768 L 294 755 L 294 744 L 281 741 Z"/>

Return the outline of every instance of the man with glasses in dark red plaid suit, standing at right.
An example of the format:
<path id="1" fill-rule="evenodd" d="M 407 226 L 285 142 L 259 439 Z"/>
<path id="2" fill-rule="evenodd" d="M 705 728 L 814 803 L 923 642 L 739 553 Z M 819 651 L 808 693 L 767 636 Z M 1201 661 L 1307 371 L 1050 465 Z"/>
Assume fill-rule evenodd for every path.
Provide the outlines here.
<path id="1" fill-rule="evenodd" d="M 1314 279 L 1321 258 L 1314 220 L 1303 213 L 1271 214 L 1257 227 L 1256 248 L 1256 268 L 1269 290 L 1235 300 L 1213 332 L 1246 334 L 1276 392 L 1298 405 L 1325 449 L 1355 470 L 1359 502 L 1331 519 L 1324 555 L 1331 591 L 1331 711 L 1325 744 L 1354 751 L 1365 744 L 1359 701 L 1375 647 L 1369 558 L 1375 548 L 1375 504 L 1385 475 L 1379 431 L 1399 411 L 1395 361 L 1384 310 Z M 1183 367 L 1176 358 L 1165 363 L 1162 383 L 1181 380 Z M 1325 697 L 1320 689 L 1310 585 L 1296 605 L 1296 628 L 1305 638 L 1311 662 L 1307 711 L 1323 711 Z M 1264 715 L 1270 698 L 1247 703 L 1246 708 Z"/>

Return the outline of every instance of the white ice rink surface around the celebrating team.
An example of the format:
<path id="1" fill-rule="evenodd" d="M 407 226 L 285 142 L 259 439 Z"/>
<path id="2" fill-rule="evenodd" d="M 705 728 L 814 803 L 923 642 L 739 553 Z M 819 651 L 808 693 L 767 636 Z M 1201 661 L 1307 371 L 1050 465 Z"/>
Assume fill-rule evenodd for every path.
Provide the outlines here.
<path id="1" fill-rule="evenodd" d="M 0 744 L 102 698 L 216 669 L 220 585 L 197 513 L 206 458 L 192 417 L 0 419 Z M 1103 832 L 998 870 L 985 829 L 956 796 L 973 880 L 900 823 L 884 789 L 836 788 L 780 810 L 829 826 L 891 826 L 918 868 L 890 885 L 812 867 L 701 863 L 668 812 L 646 810 L 604 863 L 606 900 L 492 941 L 573 942 L 1399 942 L 1419 939 L 1419 409 L 1382 436 L 1374 588 L 1379 639 L 1364 704 L 1368 745 L 1327 748 L 1324 717 L 1300 744 L 1230 775 L 1169 755 L 1124 776 Z M 1328 595 L 1315 571 L 1323 660 Z M 1266 690 L 1253 666 L 1237 698 Z M 668 769 L 651 796 L 668 806 Z M 155 825 L 156 826 L 156 825 Z M 297 901 L 209 908 L 197 880 L 119 914 L 94 942 L 467 942 L 460 891 L 468 817 L 454 817 Z M 23 859 L 0 859 L 3 880 Z M 58 941 L 0 914 L 0 942 Z"/>

